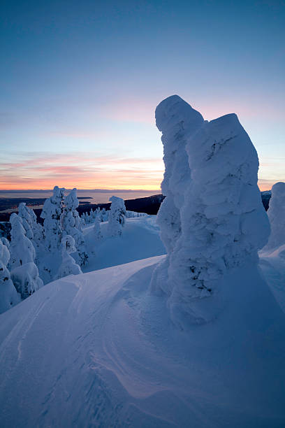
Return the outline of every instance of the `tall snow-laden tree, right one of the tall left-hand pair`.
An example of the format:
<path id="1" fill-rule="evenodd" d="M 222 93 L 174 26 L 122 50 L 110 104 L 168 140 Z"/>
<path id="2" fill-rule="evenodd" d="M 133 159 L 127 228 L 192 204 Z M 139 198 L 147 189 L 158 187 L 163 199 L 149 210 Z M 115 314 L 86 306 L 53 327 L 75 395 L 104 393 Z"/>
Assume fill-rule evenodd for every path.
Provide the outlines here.
<path id="1" fill-rule="evenodd" d="M 63 236 L 71 235 L 75 241 L 75 259 L 84 266 L 87 264 L 88 255 L 85 245 L 85 238 L 82 234 L 80 217 L 76 208 L 79 202 L 77 197 L 77 190 L 73 189 L 64 199 L 64 209 L 61 215 L 61 227 L 63 229 Z"/>

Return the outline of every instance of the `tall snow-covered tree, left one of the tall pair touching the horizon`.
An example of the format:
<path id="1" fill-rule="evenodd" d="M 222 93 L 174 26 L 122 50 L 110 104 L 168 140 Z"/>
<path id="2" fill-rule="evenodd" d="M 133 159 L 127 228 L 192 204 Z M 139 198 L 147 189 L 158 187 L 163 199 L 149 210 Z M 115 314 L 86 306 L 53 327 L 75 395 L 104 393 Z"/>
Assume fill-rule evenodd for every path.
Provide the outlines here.
<path id="1" fill-rule="evenodd" d="M 61 243 L 61 214 L 64 201 L 64 188 L 54 187 L 53 195 L 45 200 L 41 217 L 44 219 L 45 248 L 57 252 Z"/>

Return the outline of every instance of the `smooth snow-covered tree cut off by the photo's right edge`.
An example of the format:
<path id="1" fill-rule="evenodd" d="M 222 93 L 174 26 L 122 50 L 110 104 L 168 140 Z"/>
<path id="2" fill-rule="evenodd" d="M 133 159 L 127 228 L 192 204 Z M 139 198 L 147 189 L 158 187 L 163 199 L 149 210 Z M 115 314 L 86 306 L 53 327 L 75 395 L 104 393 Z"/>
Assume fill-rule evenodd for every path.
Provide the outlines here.
<path id="1" fill-rule="evenodd" d="M 275 250 L 285 244 L 285 183 L 275 183 L 271 189 L 268 218 L 271 233 L 263 251 Z"/>

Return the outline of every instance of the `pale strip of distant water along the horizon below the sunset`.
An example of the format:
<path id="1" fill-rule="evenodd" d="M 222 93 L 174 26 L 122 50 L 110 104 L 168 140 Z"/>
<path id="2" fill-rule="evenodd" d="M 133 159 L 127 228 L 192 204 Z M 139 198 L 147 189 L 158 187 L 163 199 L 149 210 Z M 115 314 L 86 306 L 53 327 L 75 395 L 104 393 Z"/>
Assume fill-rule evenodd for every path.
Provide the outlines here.
<path id="1" fill-rule="evenodd" d="M 78 190 L 78 197 L 92 198 L 86 199 L 90 204 L 105 204 L 110 197 L 115 196 L 122 199 L 137 199 L 159 194 L 161 190 Z M 68 194 L 68 190 L 66 190 Z M 49 198 L 52 196 L 52 190 L 0 190 L 0 198 Z M 80 199 L 85 201 L 85 199 Z M 33 208 L 41 208 L 42 206 L 34 206 Z M 11 210 L 8 210 L 11 211 Z"/>

